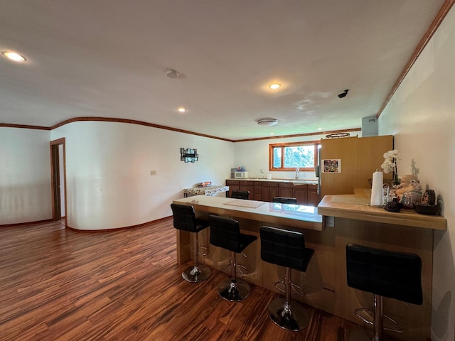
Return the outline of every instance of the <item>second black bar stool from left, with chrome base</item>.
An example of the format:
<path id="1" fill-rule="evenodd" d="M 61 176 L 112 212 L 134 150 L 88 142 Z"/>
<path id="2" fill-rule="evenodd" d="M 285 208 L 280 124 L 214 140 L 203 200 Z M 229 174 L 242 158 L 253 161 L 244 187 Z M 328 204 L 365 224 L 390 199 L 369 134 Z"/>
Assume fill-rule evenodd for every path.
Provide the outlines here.
<path id="1" fill-rule="evenodd" d="M 218 286 L 218 294 L 228 301 L 242 301 L 250 295 L 250 286 L 247 282 L 237 279 L 237 257 L 257 237 L 240 233 L 237 220 L 209 215 L 210 244 L 230 251 L 230 278 Z"/>

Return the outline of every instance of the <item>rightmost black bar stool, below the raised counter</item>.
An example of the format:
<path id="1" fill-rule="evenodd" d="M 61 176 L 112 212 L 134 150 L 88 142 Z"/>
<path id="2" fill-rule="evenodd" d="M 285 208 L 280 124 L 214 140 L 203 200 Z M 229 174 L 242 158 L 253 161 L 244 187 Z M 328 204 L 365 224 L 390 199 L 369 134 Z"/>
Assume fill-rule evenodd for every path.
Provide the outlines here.
<path id="1" fill-rule="evenodd" d="M 403 332 L 397 321 L 392 320 L 382 311 L 382 297 L 395 298 L 407 303 L 421 305 L 422 260 L 417 254 L 387 251 L 363 247 L 356 244 L 346 245 L 346 271 L 348 286 L 373 293 L 373 309 L 355 309 L 355 315 L 369 325 L 373 325 L 373 340 L 382 340 L 384 330 Z M 373 320 L 360 315 L 361 311 L 373 312 Z M 394 328 L 385 327 L 384 318 Z M 359 336 L 355 335 L 356 340 Z M 364 340 L 371 340 L 366 335 Z"/>

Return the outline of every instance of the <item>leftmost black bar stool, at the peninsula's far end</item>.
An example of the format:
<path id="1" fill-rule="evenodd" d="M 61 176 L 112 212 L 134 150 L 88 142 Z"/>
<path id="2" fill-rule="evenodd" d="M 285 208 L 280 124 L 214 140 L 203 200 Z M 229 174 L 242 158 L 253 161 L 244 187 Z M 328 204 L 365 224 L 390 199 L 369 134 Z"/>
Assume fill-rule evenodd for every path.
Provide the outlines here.
<path id="1" fill-rule="evenodd" d="M 188 282 L 205 281 L 210 275 L 210 269 L 199 266 L 199 233 L 208 227 L 208 221 L 196 218 L 194 207 L 190 205 L 171 204 L 173 227 L 182 231 L 195 233 L 194 237 L 194 266 L 182 272 L 182 277 Z"/>

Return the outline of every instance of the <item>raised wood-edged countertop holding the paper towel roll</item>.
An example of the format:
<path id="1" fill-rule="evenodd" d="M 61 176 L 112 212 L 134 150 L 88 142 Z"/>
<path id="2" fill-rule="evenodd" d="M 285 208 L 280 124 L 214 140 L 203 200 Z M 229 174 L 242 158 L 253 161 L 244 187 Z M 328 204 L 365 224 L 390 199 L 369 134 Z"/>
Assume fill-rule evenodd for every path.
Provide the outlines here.
<path id="1" fill-rule="evenodd" d="M 441 216 L 419 215 L 410 209 L 388 212 L 382 207 L 370 206 L 368 193 L 370 193 L 368 189 L 356 189 L 355 194 L 326 195 L 319 202 L 318 213 L 324 216 L 368 222 L 446 230 L 446 219 Z"/>

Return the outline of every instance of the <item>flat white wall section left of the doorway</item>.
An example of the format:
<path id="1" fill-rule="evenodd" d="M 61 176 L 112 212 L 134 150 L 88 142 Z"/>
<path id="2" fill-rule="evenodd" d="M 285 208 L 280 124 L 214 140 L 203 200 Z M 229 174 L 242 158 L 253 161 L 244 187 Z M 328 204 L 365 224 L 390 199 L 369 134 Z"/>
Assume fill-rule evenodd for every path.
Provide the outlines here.
<path id="1" fill-rule="evenodd" d="M 0 127 L 0 224 L 48 219 L 49 131 Z"/>

